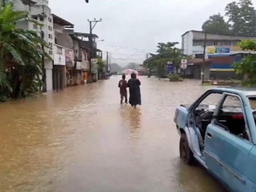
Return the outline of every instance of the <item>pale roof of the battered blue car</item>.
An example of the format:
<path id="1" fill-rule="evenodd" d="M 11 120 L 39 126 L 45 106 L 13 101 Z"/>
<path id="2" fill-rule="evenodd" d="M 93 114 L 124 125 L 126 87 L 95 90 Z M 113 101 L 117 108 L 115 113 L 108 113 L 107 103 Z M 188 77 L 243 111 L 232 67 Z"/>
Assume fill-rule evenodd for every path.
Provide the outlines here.
<path id="1" fill-rule="evenodd" d="M 256 87 L 245 88 L 245 87 L 214 87 L 210 90 L 218 90 L 222 92 L 231 92 L 242 94 L 244 96 L 256 96 Z"/>

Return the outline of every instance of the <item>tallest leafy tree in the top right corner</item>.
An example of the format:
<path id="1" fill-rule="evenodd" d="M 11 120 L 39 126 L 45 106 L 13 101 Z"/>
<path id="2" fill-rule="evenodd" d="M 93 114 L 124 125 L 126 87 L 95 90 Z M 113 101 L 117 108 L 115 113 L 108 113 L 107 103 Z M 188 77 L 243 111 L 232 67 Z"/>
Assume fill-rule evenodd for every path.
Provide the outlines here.
<path id="1" fill-rule="evenodd" d="M 233 1 L 225 11 L 233 34 L 256 35 L 256 11 L 251 0 Z"/>

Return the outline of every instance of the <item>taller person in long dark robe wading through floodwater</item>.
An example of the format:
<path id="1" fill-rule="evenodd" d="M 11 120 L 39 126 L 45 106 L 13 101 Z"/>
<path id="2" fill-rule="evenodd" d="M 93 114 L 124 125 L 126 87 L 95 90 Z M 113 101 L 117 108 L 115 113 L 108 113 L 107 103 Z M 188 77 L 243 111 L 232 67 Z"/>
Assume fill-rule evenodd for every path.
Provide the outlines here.
<path id="1" fill-rule="evenodd" d="M 141 105 L 141 98 L 140 98 L 140 81 L 136 78 L 135 73 L 131 73 L 131 78 L 128 80 L 127 86 L 129 87 L 129 103 L 131 106 L 136 108 L 136 105 Z"/>

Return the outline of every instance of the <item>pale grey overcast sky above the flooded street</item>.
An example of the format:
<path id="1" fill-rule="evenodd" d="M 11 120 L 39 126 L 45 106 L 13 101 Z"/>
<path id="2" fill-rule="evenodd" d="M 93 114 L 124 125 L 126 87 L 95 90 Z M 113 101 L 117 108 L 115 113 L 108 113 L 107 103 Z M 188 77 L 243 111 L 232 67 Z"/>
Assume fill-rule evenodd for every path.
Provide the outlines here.
<path id="1" fill-rule="evenodd" d="M 200 30 L 209 15 L 224 13 L 232 0 L 49 0 L 52 13 L 89 32 L 87 19 L 99 19 L 93 29 L 98 48 L 111 52 L 111 62 L 142 63 L 157 42 L 181 41 L 187 30 Z M 256 5 L 256 0 L 252 0 Z M 179 45 L 180 47 L 181 45 Z"/>

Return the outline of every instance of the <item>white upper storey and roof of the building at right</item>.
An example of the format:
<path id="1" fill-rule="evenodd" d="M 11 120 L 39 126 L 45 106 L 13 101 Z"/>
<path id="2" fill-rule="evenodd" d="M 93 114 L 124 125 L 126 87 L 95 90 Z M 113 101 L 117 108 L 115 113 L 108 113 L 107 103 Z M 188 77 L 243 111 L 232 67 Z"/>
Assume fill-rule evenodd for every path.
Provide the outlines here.
<path id="1" fill-rule="evenodd" d="M 189 30 L 181 35 L 182 37 L 182 50 L 186 55 L 192 55 L 195 58 L 202 58 L 203 44 L 205 39 L 205 32 L 197 30 Z M 221 33 L 206 33 L 206 46 L 215 48 L 229 48 L 231 53 L 237 53 L 241 50 L 236 44 L 244 39 L 256 39 L 256 36 L 237 36 Z M 206 53 L 207 54 L 207 49 Z M 207 56 L 206 56 L 207 58 Z"/>

